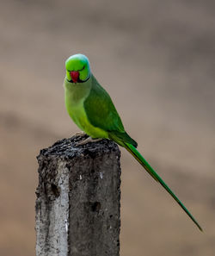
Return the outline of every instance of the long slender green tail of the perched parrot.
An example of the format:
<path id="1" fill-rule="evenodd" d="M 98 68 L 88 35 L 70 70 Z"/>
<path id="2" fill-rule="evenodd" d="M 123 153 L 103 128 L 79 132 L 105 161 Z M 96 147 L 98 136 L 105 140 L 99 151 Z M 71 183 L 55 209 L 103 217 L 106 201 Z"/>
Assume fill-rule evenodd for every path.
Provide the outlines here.
<path id="1" fill-rule="evenodd" d="M 138 153 L 138 150 L 132 146 L 132 144 L 123 142 L 123 147 L 126 148 L 126 150 L 132 154 L 132 156 L 138 160 L 140 165 L 144 166 L 144 169 L 146 172 L 148 172 L 151 177 L 153 177 L 157 182 L 159 182 L 165 190 L 168 191 L 168 193 L 175 199 L 175 201 L 181 206 L 181 208 L 187 213 L 187 215 L 191 218 L 191 220 L 196 224 L 198 228 L 200 228 L 200 231 L 203 231 L 202 228 L 200 227 L 200 224 L 194 219 L 194 216 L 191 215 L 191 213 L 187 210 L 187 208 L 181 203 L 181 201 L 178 199 L 178 197 L 175 196 L 172 190 L 169 189 L 169 186 L 164 183 L 163 179 L 160 178 L 160 176 L 155 172 L 151 165 L 147 163 L 147 161 L 144 159 L 144 157 Z"/>

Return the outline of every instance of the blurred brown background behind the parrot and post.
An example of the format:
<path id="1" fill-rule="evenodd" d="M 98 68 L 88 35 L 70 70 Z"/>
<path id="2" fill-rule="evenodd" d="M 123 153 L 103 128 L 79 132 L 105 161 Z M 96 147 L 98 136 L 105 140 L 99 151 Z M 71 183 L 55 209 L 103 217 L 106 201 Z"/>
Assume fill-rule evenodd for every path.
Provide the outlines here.
<path id="1" fill-rule="evenodd" d="M 78 131 L 64 60 L 89 57 L 138 149 L 122 149 L 121 256 L 215 254 L 214 1 L 1 1 L 0 255 L 34 255 L 39 150 Z"/>

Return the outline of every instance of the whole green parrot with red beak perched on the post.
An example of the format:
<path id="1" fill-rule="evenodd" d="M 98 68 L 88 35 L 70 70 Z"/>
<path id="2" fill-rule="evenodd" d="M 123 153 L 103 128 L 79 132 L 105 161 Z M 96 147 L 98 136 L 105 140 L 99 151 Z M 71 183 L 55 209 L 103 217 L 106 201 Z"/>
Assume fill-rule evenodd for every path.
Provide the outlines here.
<path id="1" fill-rule="evenodd" d="M 78 145 L 101 139 L 114 140 L 132 154 L 140 165 L 144 166 L 152 178 L 160 183 L 175 199 L 187 215 L 202 231 L 199 223 L 187 208 L 175 196 L 169 186 L 164 183 L 151 165 L 138 153 L 138 143 L 126 133 L 114 103 L 90 71 L 89 59 L 83 54 L 75 54 L 65 61 L 66 76 L 64 78 L 65 107 L 78 128 L 89 135 Z"/>

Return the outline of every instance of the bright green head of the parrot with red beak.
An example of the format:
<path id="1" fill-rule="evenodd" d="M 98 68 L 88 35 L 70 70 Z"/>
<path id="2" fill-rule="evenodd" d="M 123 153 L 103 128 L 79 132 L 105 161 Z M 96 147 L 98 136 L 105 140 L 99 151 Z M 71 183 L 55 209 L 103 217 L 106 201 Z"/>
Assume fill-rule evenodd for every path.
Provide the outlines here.
<path id="1" fill-rule="evenodd" d="M 83 83 L 90 77 L 89 59 L 75 54 L 65 61 L 66 78 L 71 83 Z"/>

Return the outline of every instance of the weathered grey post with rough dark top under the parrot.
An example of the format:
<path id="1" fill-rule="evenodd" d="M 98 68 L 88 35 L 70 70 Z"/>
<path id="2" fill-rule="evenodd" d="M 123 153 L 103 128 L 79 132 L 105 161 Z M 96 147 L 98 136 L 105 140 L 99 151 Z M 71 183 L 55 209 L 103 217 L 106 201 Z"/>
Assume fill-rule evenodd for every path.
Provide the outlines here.
<path id="1" fill-rule="evenodd" d="M 80 137 L 40 151 L 37 256 L 120 255 L 120 150 Z"/>

